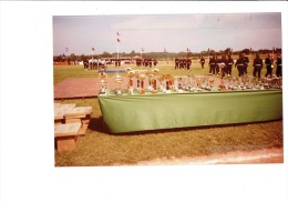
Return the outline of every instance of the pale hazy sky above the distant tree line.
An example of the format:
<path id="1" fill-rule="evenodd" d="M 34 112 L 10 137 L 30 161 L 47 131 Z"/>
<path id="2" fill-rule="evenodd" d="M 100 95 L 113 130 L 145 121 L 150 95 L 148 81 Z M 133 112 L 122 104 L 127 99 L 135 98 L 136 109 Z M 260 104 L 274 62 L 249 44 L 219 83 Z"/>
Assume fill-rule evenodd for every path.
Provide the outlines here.
<path id="1" fill-rule="evenodd" d="M 120 36 L 117 36 L 117 32 Z M 117 38 L 120 42 L 117 42 Z M 53 16 L 53 54 L 281 48 L 281 13 Z M 66 51 L 68 48 L 68 51 Z"/>

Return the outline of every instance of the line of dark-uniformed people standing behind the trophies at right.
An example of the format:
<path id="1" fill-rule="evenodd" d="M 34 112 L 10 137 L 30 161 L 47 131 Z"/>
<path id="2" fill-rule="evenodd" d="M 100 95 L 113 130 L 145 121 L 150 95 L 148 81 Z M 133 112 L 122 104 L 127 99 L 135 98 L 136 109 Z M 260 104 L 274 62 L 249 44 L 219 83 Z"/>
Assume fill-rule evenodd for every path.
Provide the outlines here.
<path id="1" fill-rule="evenodd" d="M 230 54 L 226 55 L 213 55 L 209 58 L 209 74 L 212 75 L 232 75 L 233 65 L 238 70 L 238 77 L 247 74 L 247 68 L 249 63 L 249 58 L 244 53 L 239 54 L 237 60 L 234 60 Z M 205 59 L 200 57 L 199 60 L 200 67 L 204 70 Z M 191 59 L 175 59 L 175 69 L 191 69 L 192 60 Z M 253 75 L 261 78 L 261 70 L 266 65 L 265 77 L 272 77 L 274 65 L 276 64 L 276 77 L 282 77 L 282 59 L 281 54 L 277 53 L 277 59 L 275 60 L 272 54 L 268 53 L 267 58 L 263 60 L 259 53 L 256 53 L 256 58 L 253 61 Z"/>

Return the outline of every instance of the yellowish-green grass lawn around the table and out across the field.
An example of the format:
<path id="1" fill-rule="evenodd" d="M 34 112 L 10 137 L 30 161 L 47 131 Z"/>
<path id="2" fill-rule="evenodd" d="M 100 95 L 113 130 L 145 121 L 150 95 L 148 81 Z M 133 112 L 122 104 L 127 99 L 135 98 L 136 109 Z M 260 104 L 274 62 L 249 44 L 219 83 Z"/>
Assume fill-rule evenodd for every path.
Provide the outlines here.
<path id="1" fill-rule="evenodd" d="M 134 64 L 123 65 L 122 68 Z M 109 67 L 113 68 L 113 65 Z M 174 70 L 174 63 L 161 62 L 156 68 L 161 73 L 174 75 L 187 74 L 185 70 Z M 145 68 L 137 68 L 145 69 Z M 208 74 L 208 67 L 202 70 L 193 61 L 193 74 Z M 263 72 L 264 75 L 265 72 Z M 251 75 L 251 62 L 248 68 Z M 113 74 L 109 74 L 112 77 Z M 233 68 L 233 75 L 237 75 Z M 54 84 L 68 78 L 97 77 L 95 70 L 84 71 L 82 65 L 54 67 Z M 173 130 L 142 131 L 126 134 L 110 134 L 103 125 L 99 101 L 74 99 L 55 101 L 76 103 L 78 107 L 93 107 L 92 120 L 84 137 L 80 137 L 74 151 L 56 152 L 55 166 L 93 166 L 135 164 L 153 159 L 206 155 L 229 151 L 251 151 L 282 147 L 282 120 L 229 124 L 220 127 L 200 127 Z"/>

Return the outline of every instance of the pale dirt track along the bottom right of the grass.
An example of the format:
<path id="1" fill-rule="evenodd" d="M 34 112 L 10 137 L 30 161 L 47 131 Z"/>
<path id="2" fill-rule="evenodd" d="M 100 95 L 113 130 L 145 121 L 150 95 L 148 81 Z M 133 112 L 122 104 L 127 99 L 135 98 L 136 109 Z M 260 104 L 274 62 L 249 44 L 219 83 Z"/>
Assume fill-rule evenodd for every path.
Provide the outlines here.
<path id="1" fill-rule="evenodd" d="M 284 163 L 282 148 L 257 151 L 235 151 L 225 154 L 212 154 L 181 159 L 157 159 L 142 161 L 137 165 L 189 165 L 189 164 L 257 164 Z"/>

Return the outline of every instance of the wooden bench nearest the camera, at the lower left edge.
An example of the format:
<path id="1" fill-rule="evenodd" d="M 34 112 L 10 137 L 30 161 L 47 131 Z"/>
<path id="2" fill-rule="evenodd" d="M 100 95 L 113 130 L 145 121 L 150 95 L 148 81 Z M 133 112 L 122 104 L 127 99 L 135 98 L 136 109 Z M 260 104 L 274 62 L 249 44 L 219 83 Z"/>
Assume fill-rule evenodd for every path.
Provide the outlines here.
<path id="1" fill-rule="evenodd" d="M 58 151 L 71 151 L 76 147 L 81 123 L 54 125 L 54 139 Z"/>

